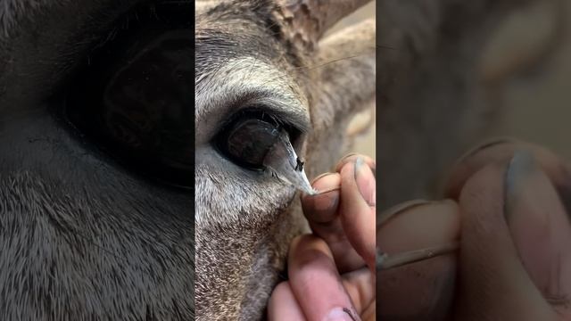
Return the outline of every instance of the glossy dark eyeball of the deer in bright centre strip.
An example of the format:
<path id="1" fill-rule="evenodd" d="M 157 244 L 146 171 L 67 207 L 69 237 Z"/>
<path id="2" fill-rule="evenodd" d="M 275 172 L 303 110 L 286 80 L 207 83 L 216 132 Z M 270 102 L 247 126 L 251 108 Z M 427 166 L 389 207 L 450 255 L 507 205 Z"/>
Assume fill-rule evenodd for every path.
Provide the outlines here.
<path id="1" fill-rule="evenodd" d="M 228 153 L 238 164 L 260 169 L 278 135 L 279 128 L 264 120 L 239 121 L 228 131 Z"/>

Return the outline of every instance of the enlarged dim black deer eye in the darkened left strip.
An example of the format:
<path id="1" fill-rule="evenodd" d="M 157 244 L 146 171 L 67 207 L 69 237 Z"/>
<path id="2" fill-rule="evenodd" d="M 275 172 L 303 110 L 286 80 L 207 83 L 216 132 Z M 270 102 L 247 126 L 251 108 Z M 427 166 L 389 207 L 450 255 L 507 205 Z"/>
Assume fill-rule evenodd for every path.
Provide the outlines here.
<path id="1" fill-rule="evenodd" d="M 141 22 L 99 48 L 70 86 L 64 116 L 127 169 L 192 188 L 194 32 L 186 21 Z"/>

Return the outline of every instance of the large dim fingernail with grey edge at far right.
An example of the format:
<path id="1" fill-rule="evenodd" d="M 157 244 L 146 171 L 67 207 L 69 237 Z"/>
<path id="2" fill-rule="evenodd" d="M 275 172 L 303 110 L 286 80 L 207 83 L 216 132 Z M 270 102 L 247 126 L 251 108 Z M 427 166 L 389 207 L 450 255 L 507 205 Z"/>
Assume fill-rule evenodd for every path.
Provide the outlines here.
<path id="1" fill-rule="evenodd" d="M 506 220 L 528 275 L 545 296 L 571 291 L 571 225 L 550 178 L 532 153 L 516 152 L 505 182 Z"/>

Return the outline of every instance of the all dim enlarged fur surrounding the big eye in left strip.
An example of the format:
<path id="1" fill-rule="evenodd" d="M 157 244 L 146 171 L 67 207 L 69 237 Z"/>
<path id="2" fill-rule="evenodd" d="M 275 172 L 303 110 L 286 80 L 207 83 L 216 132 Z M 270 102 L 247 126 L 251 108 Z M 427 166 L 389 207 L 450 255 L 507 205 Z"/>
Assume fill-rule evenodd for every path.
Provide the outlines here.
<path id="1" fill-rule="evenodd" d="M 0 319 L 193 319 L 193 197 L 97 152 L 50 99 L 128 1 L 8 3 L 26 17 L 0 43 Z"/>

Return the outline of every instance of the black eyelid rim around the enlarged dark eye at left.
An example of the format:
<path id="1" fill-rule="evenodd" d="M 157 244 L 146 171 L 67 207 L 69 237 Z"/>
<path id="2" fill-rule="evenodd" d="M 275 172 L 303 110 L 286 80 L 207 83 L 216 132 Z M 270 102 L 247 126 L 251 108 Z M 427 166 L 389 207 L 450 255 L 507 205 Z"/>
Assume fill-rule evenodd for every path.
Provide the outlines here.
<path id="1" fill-rule="evenodd" d="M 186 169 L 157 169 L 158 166 L 154 165 L 156 160 L 150 159 L 149 161 L 145 157 L 140 158 L 141 155 L 145 156 L 145 150 L 137 154 L 138 156 L 127 155 L 127 157 L 124 152 L 118 150 L 120 145 L 112 144 L 109 138 L 102 134 L 103 132 L 99 129 L 95 130 L 93 125 L 90 125 L 92 121 L 94 124 L 100 122 L 100 120 L 90 118 L 91 116 L 103 117 L 101 113 L 103 110 L 99 110 L 98 103 L 91 103 L 90 98 L 96 98 L 94 102 L 101 99 L 104 95 L 103 90 L 109 86 L 112 77 L 126 66 L 125 58 L 135 59 L 141 49 L 148 46 L 146 44 L 166 32 L 173 29 L 192 29 L 193 21 L 190 19 L 190 11 L 186 11 L 188 14 L 183 14 L 185 11 L 177 10 L 179 4 L 186 7 L 186 4 L 191 3 L 167 3 L 165 1 L 150 3 L 146 1 L 144 4 L 137 4 L 116 20 L 107 29 L 107 33 L 102 33 L 103 36 L 99 37 L 98 41 L 93 42 L 95 45 L 87 51 L 87 59 L 70 70 L 68 76 L 62 81 L 61 89 L 49 100 L 49 103 L 54 118 L 62 125 L 62 128 L 70 132 L 71 136 L 76 137 L 84 148 L 101 155 L 108 161 L 116 161 L 137 177 L 147 177 L 158 180 L 164 185 L 187 189 L 194 188 L 194 184 L 190 182 L 190 179 L 187 181 L 186 176 L 194 177 L 194 175 L 181 175 L 181 170 L 185 170 L 186 173 Z M 128 26 L 127 21 L 131 21 Z M 141 45 L 137 45 L 137 42 Z M 189 56 L 188 59 L 192 60 L 193 57 Z M 181 67 L 185 68 L 184 66 L 186 65 Z M 137 82 L 137 79 L 134 81 Z"/>

